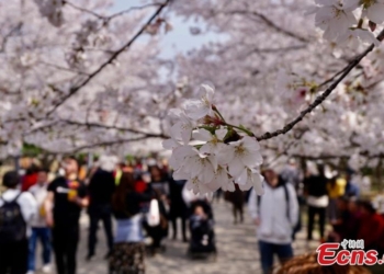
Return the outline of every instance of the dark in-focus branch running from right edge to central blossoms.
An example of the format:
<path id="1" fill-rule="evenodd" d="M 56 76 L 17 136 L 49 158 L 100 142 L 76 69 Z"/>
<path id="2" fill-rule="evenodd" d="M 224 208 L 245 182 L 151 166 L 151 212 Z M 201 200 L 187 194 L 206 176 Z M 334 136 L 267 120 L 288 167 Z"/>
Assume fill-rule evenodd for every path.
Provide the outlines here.
<path id="1" fill-rule="evenodd" d="M 379 41 L 384 39 L 384 30 L 379 34 L 377 36 Z M 286 124 L 282 129 L 275 130 L 273 133 L 266 133 L 262 136 L 256 137 L 257 140 L 268 140 L 273 137 L 276 137 L 279 135 L 286 134 L 290 132 L 296 124 L 298 124 L 308 113 L 310 113 L 313 110 L 315 110 L 318 105 L 320 105 L 329 95 L 330 93 L 337 88 L 337 85 L 351 72 L 351 70 L 357 67 L 360 61 L 373 50 L 374 44 L 369 46 L 362 54 L 358 55 L 346 68 L 343 68 L 341 71 L 342 73 L 337 78 L 336 81 L 334 81 L 328 89 L 323 92 L 320 95 L 316 98 L 316 100 L 304 111 L 301 112 L 298 117 L 296 117 L 291 123 Z"/>

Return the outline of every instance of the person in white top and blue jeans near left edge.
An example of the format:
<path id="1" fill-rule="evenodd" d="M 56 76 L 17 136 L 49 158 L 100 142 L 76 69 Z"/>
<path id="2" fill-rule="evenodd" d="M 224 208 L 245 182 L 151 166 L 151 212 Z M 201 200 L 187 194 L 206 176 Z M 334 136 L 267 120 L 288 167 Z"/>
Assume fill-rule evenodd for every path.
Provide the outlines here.
<path id="1" fill-rule="evenodd" d="M 37 240 L 43 246 L 42 258 L 43 258 L 43 273 L 50 272 L 50 228 L 47 226 L 45 218 L 45 199 L 48 195 L 48 170 L 39 170 L 37 172 L 37 183 L 29 190 L 30 193 L 35 197 L 37 202 L 37 214 L 31 221 L 32 236 L 30 237 L 30 255 L 29 255 L 29 272 L 33 274 L 35 272 L 35 253 Z"/>

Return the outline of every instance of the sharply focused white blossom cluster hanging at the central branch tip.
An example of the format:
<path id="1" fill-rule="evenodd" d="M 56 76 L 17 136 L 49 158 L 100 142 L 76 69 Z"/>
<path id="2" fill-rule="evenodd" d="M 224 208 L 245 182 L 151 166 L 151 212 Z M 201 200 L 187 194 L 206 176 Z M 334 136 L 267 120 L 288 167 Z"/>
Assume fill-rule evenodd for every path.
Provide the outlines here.
<path id="1" fill-rule="evenodd" d="M 182 109 L 169 113 L 171 138 L 163 141 L 172 150 L 170 165 L 174 180 L 188 180 L 195 194 L 210 194 L 218 189 L 241 191 L 253 187 L 261 195 L 262 163 L 260 146 L 244 126 L 234 126 L 212 104 L 214 89 L 202 85 L 200 100 L 189 100 Z"/>

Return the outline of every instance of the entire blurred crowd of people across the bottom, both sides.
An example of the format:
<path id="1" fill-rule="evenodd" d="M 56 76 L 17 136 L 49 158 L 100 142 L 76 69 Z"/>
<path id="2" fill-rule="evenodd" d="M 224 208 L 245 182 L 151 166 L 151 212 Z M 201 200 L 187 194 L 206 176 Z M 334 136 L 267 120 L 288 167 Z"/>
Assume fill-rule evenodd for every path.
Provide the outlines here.
<path id="1" fill-rule="evenodd" d="M 353 172 L 328 173 L 323 164 L 303 172 L 290 160 L 280 172 L 262 170 L 262 196 L 237 186 L 235 192 L 215 193 L 214 198 L 224 196 L 231 203 L 234 224 L 244 221 L 248 204 L 263 273 L 271 273 L 274 255 L 281 262 L 293 258 L 292 242 L 304 224 L 308 242 L 318 225 L 319 243 L 359 239 L 364 240 L 366 250 L 384 253 L 384 217 L 370 201 L 361 198 Z M 111 274 L 145 273 L 145 255 L 165 252 L 163 239 L 177 240 L 179 227 L 190 255 L 216 254 L 210 201 L 188 191 L 185 181 L 174 181 L 167 161 L 117 162 L 113 157 L 101 157 L 87 169 L 68 157 L 55 174 L 31 165 L 22 176 L 7 172 L 2 184 L 0 274 L 35 273 L 37 242 L 42 244 L 43 273 L 53 271 L 52 254 L 57 273 L 76 273 L 83 208 L 89 216 L 86 260 L 95 258 L 101 222 Z"/>

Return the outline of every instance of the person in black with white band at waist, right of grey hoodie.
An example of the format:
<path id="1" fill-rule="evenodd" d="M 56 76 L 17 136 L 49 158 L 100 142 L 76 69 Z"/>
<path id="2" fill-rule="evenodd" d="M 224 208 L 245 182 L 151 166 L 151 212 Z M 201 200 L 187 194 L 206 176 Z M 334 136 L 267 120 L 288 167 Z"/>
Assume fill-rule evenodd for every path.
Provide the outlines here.
<path id="1" fill-rule="evenodd" d="M 327 193 L 328 179 L 324 173 L 324 165 L 317 165 L 317 172 L 312 171 L 312 174 L 304 179 L 304 187 L 308 195 L 308 230 L 307 241 L 313 240 L 313 230 L 315 225 L 315 217 L 318 216 L 318 225 L 320 230 L 320 241 L 325 241 L 325 225 L 326 225 L 326 212 L 328 207 L 328 193 Z"/>

